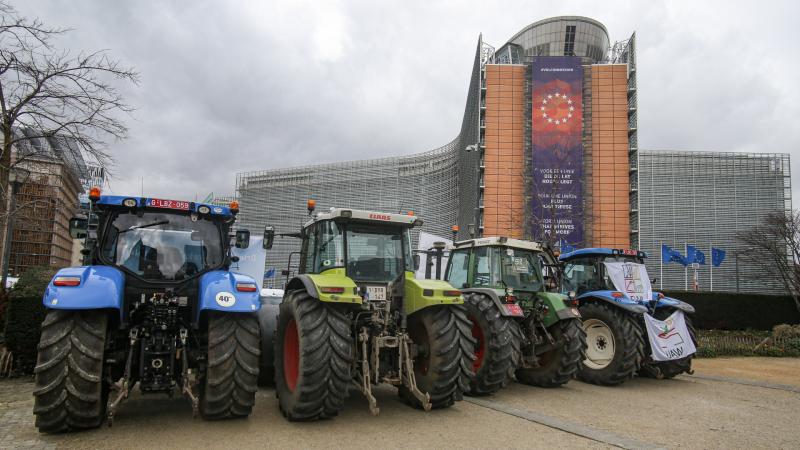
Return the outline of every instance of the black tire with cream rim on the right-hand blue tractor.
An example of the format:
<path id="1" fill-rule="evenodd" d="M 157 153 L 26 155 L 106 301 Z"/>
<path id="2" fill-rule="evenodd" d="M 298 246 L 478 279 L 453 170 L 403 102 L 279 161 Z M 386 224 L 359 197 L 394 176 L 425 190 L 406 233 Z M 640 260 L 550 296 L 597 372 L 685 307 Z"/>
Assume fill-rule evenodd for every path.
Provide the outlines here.
<path id="1" fill-rule="evenodd" d="M 643 330 L 637 315 L 601 301 L 585 303 L 580 311 L 587 349 L 578 378 L 615 386 L 636 375 L 644 359 Z"/>

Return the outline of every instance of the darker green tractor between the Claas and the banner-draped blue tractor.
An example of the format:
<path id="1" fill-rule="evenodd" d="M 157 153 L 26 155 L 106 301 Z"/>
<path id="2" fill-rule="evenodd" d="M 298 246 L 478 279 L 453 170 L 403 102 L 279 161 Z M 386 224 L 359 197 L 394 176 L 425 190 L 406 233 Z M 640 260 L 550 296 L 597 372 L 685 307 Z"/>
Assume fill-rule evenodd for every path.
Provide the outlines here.
<path id="1" fill-rule="evenodd" d="M 453 244 L 446 280 L 461 289 L 475 338 L 469 394 L 517 381 L 557 387 L 584 359 L 586 333 L 574 295 L 556 289 L 557 260 L 536 242 L 485 237 Z"/>

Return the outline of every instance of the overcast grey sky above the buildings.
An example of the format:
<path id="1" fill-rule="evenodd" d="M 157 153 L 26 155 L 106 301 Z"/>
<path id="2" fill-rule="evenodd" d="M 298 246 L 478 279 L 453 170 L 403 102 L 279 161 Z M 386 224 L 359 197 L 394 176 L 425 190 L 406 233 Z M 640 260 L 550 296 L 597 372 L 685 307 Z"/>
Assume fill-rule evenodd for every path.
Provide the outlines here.
<path id="1" fill-rule="evenodd" d="M 454 138 L 479 33 L 557 15 L 636 32 L 646 149 L 791 153 L 800 3 L 786 1 L 12 1 L 141 73 L 111 190 L 232 194 L 237 172 L 416 153 Z M 800 182 L 793 183 L 795 198 Z M 796 200 L 795 203 L 798 201 Z"/>

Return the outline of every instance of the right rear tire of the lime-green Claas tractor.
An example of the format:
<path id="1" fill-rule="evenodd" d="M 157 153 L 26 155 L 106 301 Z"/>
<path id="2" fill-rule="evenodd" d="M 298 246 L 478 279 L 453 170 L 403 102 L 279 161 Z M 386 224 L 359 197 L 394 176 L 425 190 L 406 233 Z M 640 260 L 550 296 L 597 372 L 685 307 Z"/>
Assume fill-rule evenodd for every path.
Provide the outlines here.
<path id="1" fill-rule="evenodd" d="M 433 409 L 452 406 L 469 390 L 475 348 L 471 328 L 463 306 L 429 306 L 408 317 L 408 334 L 417 345 L 414 376 Z M 405 386 L 399 392 L 406 402 L 421 407 Z"/>

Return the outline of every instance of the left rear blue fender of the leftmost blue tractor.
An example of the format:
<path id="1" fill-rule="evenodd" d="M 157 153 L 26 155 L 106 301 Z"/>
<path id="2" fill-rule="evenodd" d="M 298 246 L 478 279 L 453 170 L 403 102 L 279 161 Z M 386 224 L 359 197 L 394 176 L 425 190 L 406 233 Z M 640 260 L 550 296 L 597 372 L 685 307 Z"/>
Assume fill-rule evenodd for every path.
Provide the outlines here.
<path id="1" fill-rule="evenodd" d="M 77 286 L 56 286 L 57 277 L 79 277 Z M 56 272 L 42 303 L 49 309 L 117 309 L 122 310 L 125 276 L 109 266 L 68 267 Z"/>

